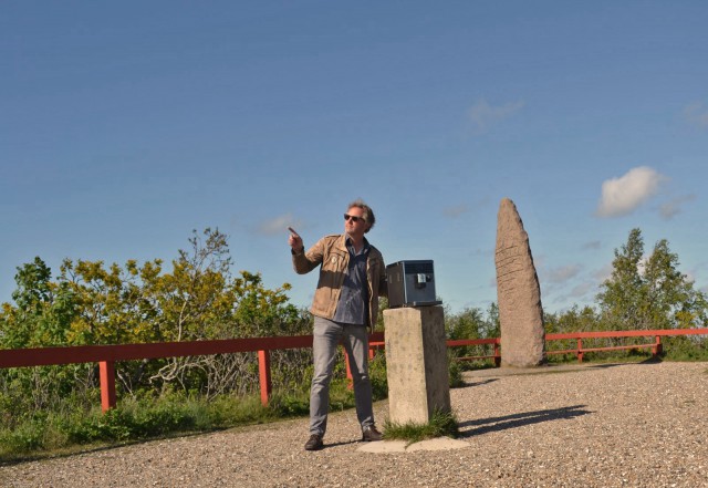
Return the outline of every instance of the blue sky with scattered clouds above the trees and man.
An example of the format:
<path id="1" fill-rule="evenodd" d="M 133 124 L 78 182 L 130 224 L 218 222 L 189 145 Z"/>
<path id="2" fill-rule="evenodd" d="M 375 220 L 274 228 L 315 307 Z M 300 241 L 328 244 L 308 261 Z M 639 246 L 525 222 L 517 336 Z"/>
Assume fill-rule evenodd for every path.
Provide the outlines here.
<path id="1" fill-rule="evenodd" d="M 35 256 L 169 261 L 192 229 L 290 282 L 375 210 L 387 262 L 496 301 L 499 203 L 543 305 L 594 301 L 632 228 L 708 290 L 705 1 L 0 3 L 0 301 Z"/>

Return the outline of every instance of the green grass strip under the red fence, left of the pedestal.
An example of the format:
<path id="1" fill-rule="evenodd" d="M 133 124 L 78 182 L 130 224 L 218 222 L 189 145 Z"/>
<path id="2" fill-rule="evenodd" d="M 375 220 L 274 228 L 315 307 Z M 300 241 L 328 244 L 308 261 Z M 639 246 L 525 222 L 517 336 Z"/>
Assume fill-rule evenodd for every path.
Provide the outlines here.
<path id="1" fill-rule="evenodd" d="M 372 368 L 374 399 L 387 393 L 385 368 Z M 346 378 L 330 385 L 330 409 L 354 407 L 354 394 Z M 266 424 L 279 419 L 306 417 L 310 412 L 309 384 L 296 391 L 273 392 L 268 406 L 260 395 L 220 395 L 211 399 L 186 392 L 144 392 L 122 398 L 115 408 L 103 413 L 98 405 L 82 407 L 67 398 L 60 411 L 28 412 L 12 417 L 0 405 L 0 465 L 41 459 L 65 453 L 117 446 L 148 439 L 199 434 L 226 428 Z"/>

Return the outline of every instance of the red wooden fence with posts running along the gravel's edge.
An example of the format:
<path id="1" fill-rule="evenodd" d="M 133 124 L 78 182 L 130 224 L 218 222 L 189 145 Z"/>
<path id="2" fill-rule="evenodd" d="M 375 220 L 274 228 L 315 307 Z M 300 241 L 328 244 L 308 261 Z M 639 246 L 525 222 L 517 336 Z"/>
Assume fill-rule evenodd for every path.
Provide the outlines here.
<path id="1" fill-rule="evenodd" d="M 708 335 L 708 329 L 655 330 L 655 331 L 608 331 L 575 332 L 568 334 L 546 334 L 546 341 L 575 340 L 576 347 L 550 350 L 546 354 L 575 354 L 580 362 L 586 352 L 629 350 L 652 347 L 654 355 L 662 353 L 660 338 L 669 335 Z M 654 338 L 654 342 L 624 344 L 607 347 L 584 347 L 584 339 Z M 462 339 L 447 341 L 448 347 L 467 345 L 491 345 L 488 355 L 466 356 L 459 360 L 492 360 L 496 366 L 501 364 L 501 341 L 492 339 Z M 369 335 L 369 347 L 384 347 L 384 333 Z M 98 363 L 101 382 L 101 405 L 107 411 L 116 405 L 115 362 L 158 357 L 180 357 L 240 352 L 258 353 L 258 367 L 261 402 L 268 403 L 272 393 L 270 376 L 270 351 L 312 347 L 312 335 L 291 335 L 275 338 L 226 339 L 215 341 L 162 342 L 149 344 L 81 345 L 66 347 L 37 347 L 0 350 L 0 367 L 29 367 L 58 364 Z M 347 364 L 348 371 L 348 364 Z"/>

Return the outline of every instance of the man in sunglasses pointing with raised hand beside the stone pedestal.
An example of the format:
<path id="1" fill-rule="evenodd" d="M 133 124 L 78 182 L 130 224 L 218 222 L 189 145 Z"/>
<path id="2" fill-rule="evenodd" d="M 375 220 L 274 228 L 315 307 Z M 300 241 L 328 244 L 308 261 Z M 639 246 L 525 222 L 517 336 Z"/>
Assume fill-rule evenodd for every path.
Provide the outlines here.
<path id="1" fill-rule="evenodd" d="M 295 272 L 304 274 L 320 267 L 320 280 L 310 311 L 314 315 L 314 373 L 310 388 L 310 438 L 306 450 L 321 449 L 330 409 L 330 381 L 334 355 L 344 345 L 354 380 L 356 417 L 362 439 L 381 440 L 374 424 L 372 384 L 368 377 L 368 335 L 378 315 L 378 297 L 386 295 L 384 258 L 364 235 L 376 218 L 364 201 L 355 200 L 344 214 L 344 233 L 325 236 L 308 252 L 292 229 L 289 243 Z"/>

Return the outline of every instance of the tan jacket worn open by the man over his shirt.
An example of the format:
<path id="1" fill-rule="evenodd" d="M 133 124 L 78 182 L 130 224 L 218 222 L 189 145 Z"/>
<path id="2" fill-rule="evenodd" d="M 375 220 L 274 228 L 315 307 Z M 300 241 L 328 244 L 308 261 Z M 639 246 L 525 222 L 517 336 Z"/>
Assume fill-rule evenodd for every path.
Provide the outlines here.
<path id="1" fill-rule="evenodd" d="M 299 274 L 305 274 L 322 266 L 320 280 L 314 292 L 312 314 L 332 320 L 340 301 L 340 291 L 344 282 L 344 273 L 350 263 L 350 251 L 346 249 L 346 235 L 325 236 L 308 252 L 293 252 L 292 266 Z M 371 246 L 366 260 L 366 280 L 368 282 L 368 328 L 376 325 L 378 316 L 378 297 L 387 297 L 386 267 L 384 257 Z"/>

